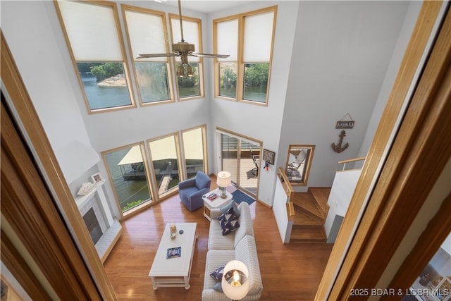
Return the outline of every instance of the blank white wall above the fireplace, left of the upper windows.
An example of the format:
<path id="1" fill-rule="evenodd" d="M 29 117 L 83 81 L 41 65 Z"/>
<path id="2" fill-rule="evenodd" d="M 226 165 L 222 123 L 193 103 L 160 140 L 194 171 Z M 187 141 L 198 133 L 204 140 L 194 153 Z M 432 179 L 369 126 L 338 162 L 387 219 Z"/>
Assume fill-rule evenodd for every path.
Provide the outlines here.
<path id="1" fill-rule="evenodd" d="M 51 1 L 2 1 L 1 29 L 68 183 L 97 164 L 49 13 Z M 59 25 L 58 25 L 59 26 Z M 73 70 L 70 70 L 73 73 Z"/>

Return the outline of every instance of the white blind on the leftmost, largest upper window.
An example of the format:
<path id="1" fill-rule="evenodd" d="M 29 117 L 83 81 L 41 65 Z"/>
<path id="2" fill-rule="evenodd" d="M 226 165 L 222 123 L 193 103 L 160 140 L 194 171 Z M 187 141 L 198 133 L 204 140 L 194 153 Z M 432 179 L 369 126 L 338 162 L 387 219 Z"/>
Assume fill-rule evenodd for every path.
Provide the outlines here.
<path id="1" fill-rule="evenodd" d="M 113 7 L 58 1 L 75 61 L 123 61 Z"/>

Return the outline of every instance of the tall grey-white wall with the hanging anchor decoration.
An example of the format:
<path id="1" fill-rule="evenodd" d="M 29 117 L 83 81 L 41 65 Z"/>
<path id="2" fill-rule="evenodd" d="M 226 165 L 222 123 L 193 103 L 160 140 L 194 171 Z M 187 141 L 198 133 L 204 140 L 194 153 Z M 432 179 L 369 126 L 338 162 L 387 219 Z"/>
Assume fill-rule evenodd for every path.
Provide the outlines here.
<path id="1" fill-rule="evenodd" d="M 307 185 L 331 186 L 338 161 L 357 157 L 393 49 L 407 1 L 301 1 L 285 100 L 278 164 L 288 145 L 316 145 Z M 336 153 L 347 113 L 348 149 Z M 307 188 L 297 188 L 307 190 Z"/>

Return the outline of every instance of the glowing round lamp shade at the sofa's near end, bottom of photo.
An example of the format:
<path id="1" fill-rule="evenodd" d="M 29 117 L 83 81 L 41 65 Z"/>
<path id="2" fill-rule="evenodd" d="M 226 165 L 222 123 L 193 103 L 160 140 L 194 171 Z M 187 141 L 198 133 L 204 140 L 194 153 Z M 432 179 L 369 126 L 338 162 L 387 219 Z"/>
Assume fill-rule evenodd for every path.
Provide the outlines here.
<path id="1" fill-rule="evenodd" d="M 249 292 L 249 271 L 247 266 L 238 260 L 232 260 L 224 266 L 221 287 L 224 294 L 232 300 L 240 300 Z"/>

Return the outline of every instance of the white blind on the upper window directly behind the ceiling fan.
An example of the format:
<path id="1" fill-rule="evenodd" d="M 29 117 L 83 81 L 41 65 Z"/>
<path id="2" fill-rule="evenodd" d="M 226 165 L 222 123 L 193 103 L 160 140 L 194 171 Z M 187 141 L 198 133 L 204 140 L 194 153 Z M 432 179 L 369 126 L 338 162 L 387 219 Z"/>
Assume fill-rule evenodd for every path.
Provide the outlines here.
<path id="1" fill-rule="evenodd" d="M 183 20 L 183 39 L 185 42 L 194 44 L 194 53 L 202 53 L 202 49 L 199 48 L 199 23 L 191 20 Z M 178 18 L 171 18 L 171 28 L 173 43 L 176 44 L 182 40 L 180 33 L 180 20 Z M 175 61 L 180 61 L 180 57 L 175 57 Z M 189 62 L 199 62 L 200 59 L 197 56 L 189 56 Z"/>

